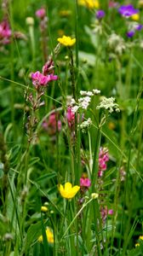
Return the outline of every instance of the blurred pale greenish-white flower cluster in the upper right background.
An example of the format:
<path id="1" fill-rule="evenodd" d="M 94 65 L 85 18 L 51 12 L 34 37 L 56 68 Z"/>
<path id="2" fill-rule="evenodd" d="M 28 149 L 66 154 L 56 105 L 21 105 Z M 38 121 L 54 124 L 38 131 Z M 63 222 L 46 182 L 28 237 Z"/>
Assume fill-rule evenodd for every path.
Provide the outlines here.
<path id="1" fill-rule="evenodd" d="M 112 33 L 112 35 L 107 40 L 107 44 L 118 55 L 122 55 L 123 51 L 126 49 L 126 45 L 123 38 L 118 36 L 116 33 Z"/>

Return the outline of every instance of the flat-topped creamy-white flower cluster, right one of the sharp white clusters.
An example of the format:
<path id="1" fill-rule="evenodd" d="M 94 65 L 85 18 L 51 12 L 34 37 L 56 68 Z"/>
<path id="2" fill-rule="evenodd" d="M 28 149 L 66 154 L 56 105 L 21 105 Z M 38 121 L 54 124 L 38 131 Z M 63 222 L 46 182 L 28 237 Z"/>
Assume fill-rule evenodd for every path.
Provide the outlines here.
<path id="1" fill-rule="evenodd" d="M 106 110 L 109 111 L 109 113 L 112 113 L 114 110 L 116 112 L 120 112 L 118 104 L 115 103 L 115 98 L 113 97 L 110 97 L 110 98 L 103 97 L 102 101 L 100 102 L 100 105 L 98 105 L 96 108 L 97 109 L 105 108 Z"/>

